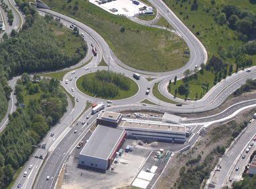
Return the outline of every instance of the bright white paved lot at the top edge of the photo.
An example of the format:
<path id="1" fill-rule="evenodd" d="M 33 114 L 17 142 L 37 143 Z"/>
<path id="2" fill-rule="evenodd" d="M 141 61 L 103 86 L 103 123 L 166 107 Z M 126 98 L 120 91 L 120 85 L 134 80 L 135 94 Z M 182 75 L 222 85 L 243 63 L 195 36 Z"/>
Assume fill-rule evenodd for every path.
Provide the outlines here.
<path id="1" fill-rule="evenodd" d="M 141 1 L 135 0 L 89 0 L 114 15 L 133 17 L 135 15 L 153 15 L 153 8 Z"/>

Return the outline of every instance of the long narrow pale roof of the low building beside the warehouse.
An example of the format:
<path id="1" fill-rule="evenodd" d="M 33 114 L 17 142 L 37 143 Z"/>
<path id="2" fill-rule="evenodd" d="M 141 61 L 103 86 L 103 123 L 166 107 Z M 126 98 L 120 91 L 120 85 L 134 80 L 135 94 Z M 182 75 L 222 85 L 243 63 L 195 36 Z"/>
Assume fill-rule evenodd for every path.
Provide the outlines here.
<path id="1" fill-rule="evenodd" d="M 147 130 L 164 130 L 172 132 L 186 132 L 186 127 L 182 125 L 173 125 L 162 122 L 153 122 L 148 120 L 126 120 L 121 121 L 120 128 L 140 128 Z"/>

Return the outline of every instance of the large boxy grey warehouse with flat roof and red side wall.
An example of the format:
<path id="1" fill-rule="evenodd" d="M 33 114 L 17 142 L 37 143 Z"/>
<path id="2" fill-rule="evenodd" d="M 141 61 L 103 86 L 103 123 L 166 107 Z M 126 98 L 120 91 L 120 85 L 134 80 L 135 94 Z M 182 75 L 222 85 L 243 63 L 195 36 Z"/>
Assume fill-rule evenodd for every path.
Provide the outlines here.
<path id="1" fill-rule="evenodd" d="M 125 130 L 97 126 L 79 154 L 80 168 L 105 171 L 115 159 L 116 152 L 125 140 Z"/>

